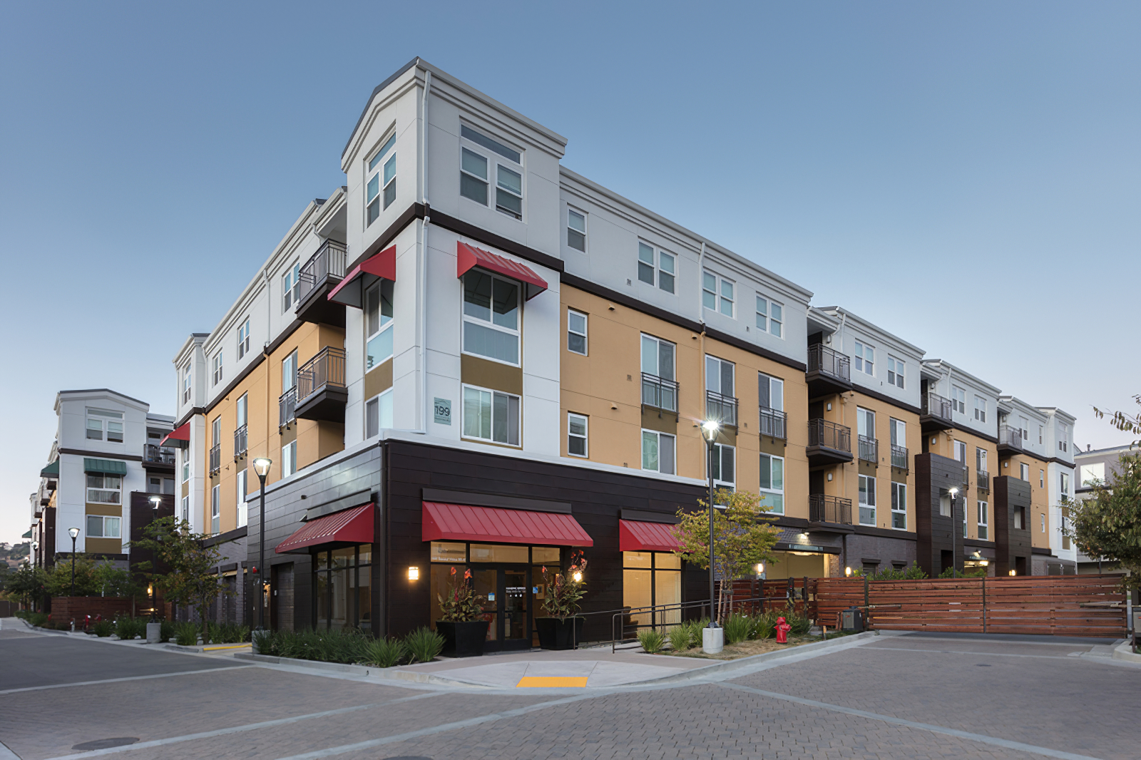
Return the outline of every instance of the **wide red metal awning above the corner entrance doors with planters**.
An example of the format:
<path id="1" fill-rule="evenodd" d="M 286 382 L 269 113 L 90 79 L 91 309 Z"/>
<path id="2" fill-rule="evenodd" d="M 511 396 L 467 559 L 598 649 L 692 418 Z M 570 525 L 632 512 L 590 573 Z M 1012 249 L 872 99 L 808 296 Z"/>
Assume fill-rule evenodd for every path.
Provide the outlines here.
<path id="1" fill-rule="evenodd" d="M 578 520 L 566 512 L 531 512 L 426 501 L 421 523 L 424 541 L 594 545 Z"/>

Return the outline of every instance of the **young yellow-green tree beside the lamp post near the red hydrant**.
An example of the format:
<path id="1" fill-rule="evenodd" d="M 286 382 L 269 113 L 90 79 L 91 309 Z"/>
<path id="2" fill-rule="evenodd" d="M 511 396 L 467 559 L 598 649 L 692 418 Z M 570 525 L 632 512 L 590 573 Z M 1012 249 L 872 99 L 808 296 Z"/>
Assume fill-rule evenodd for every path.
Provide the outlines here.
<path id="1" fill-rule="evenodd" d="M 733 582 L 745 577 L 758 563 L 770 563 L 769 551 L 777 542 L 779 531 L 768 523 L 764 512 L 771 508 L 762 503 L 762 498 L 748 491 L 720 488 L 714 503 L 725 509 L 713 509 L 713 572 L 721 577 L 718 597 L 718 618 L 725 617 L 726 591 L 731 600 Z M 678 510 L 681 523 L 673 527 L 673 535 L 681 548 L 673 553 L 699 567 L 710 566 L 710 515 L 709 502 L 698 500 L 701 511 Z"/>

